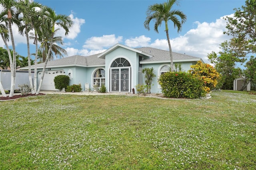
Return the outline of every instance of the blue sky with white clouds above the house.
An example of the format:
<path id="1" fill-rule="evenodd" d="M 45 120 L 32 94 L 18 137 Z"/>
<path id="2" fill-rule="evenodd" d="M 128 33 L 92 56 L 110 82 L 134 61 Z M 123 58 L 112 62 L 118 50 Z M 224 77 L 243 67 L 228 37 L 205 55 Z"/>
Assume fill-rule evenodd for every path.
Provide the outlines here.
<path id="1" fill-rule="evenodd" d="M 164 24 L 154 32 L 144 28 L 146 10 L 155 3 L 165 0 L 35 0 L 49 6 L 56 14 L 65 14 L 74 21 L 69 36 L 63 30 L 62 47 L 71 55 L 92 55 L 103 52 L 116 43 L 129 47 L 154 47 L 168 50 Z M 172 51 L 201 57 L 209 63 L 207 54 L 218 52 L 220 43 L 230 37 L 223 35 L 226 22 L 224 16 L 232 16 L 234 8 L 240 8 L 244 0 L 181 0 L 174 8 L 186 14 L 187 21 L 177 33 L 172 22 L 168 23 Z M 26 39 L 14 29 L 16 51 L 27 55 Z M 2 41 L 0 46 L 4 47 Z M 31 45 L 34 53 L 34 45 Z M 66 57 L 66 56 L 65 56 Z"/>

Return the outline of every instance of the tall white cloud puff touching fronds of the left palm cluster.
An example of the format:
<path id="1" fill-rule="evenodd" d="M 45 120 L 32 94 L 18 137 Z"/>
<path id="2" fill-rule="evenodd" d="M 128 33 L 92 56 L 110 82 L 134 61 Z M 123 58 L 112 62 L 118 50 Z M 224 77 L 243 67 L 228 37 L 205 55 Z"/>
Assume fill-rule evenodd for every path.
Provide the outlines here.
<path id="1" fill-rule="evenodd" d="M 68 36 L 64 36 L 65 30 L 63 28 L 60 28 L 60 30 L 56 32 L 56 36 L 62 36 L 63 38 L 74 40 L 77 37 L 77 35 L 81 32 L 81 26 L 85 23 L 85 20 L 77 17 L 74 18 L 73 14 L 70 14 L 69 17 L 73 21 L 73 26 L 69 29 Z M 56 26 L 56 29 L 57 28 L 59 27 Z"/>

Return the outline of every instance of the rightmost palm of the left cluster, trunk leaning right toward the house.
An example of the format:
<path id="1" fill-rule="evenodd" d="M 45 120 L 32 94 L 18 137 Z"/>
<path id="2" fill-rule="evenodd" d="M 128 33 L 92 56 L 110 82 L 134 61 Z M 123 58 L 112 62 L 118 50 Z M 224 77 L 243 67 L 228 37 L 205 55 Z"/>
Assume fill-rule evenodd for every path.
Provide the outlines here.
<path id="1" fill-rule="evenodd" d="M 50 53 L 52 51 L 52 45 L 53 45 L 53 39 L 54 39 L 54 32 L 55 32 L 55 25 L 60 26 L 65 30 L 65 36 L 69 33 L 69 28 L 72 27 L 73 22 L 69 16 L 66 15 L 57 15 L 52 8 L 43 7 L 42 10 L 42 32 L 40 34 L 41 38 L 39 40 L 42 40 L 42 37 L 50 38 L 50 47 L 48 49 L 48 53 L 44 62 L 44 68 L 42 71 L 42 77 L 40 79 L 40 83 L 38 86 L 38 90 L 36 91 L 36 94 L 40 93 L 40 89 L 42 86 L 42 82 L 44 79 L 44 73 L 46 69 L 46 65 L 48 63 Z M 50 30 L 50 31 L 49 31 Z"/>

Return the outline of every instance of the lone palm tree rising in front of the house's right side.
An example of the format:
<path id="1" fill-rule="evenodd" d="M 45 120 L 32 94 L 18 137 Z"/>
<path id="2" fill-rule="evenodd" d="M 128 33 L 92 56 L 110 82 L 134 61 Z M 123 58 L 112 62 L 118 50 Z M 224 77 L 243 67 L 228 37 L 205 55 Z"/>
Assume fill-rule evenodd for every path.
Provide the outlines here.
<path id="1" fill-rule="evenodd" d="M 174 4 L 179 5 L 179 0 L 168 0 L 167 2 L 164 2 L 163 4 L 153 4 L 148 7 L 148 10 L 146 12 L 146 20 L 144 22 L 144 27 L 148 30 L 150 30 L 149 24 L 151 20 L 154 20 L 154 31 L 158 33 L 158 27 L 161 26 L 162 22 L 165 24 L 165 32 L 167 36 L 167 41 L 169 45 L 169 51 L 170 51 L 170 60 L 171 60 L 171 71 L 174 71 L 173 67 L 173 58 L 172 58 L 172 47 L 170 43 L 169 38 L 169 32 L 168 32 L 168 21 L 171 20 L 174 24 L 174 28 L 178 28 L 178 32 L 182 29 L 182 24 L 186 22 L 186 15 L 181 12 L 180 10 L 172 10 L 172 7 Z M 180 17 L 181 21 L 179 20 Z"/>

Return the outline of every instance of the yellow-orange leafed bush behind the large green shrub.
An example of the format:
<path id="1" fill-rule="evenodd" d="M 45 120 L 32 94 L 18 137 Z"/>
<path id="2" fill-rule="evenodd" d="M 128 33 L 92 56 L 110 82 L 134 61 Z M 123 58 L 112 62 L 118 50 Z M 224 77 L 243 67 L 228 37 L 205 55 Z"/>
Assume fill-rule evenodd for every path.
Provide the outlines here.
<path id="1" fill-rule="evenodd" d="M 189 72 L 204 82 L 206 93 L 216 87 L 220 75 L 212 65 L 198 61 L 196 65 L 191 65 L 190 67 Z"/>

